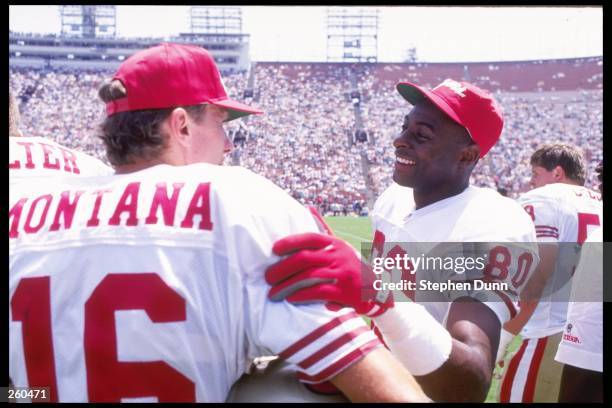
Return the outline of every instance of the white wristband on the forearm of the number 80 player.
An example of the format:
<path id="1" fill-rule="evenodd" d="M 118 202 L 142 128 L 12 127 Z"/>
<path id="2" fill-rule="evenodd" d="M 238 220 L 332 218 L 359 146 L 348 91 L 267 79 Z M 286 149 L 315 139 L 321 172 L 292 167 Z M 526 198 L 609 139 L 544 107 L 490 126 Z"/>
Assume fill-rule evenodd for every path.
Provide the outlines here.
<path id="1" fill-rule="evenodd" d="M 429 374 L 448 360 L 453 338 L 423 306 L 398 302 L 373 320 L 391 353 L 411 374 Z"/>

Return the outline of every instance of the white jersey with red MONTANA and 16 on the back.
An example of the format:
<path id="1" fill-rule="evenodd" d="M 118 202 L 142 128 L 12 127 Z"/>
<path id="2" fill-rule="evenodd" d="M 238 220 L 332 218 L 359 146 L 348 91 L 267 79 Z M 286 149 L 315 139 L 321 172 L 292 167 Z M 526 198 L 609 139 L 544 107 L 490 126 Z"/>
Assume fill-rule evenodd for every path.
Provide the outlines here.
<path id="1" fill-rule="evenodd" d="M 317 231 L 240 167 L 155 166 L 11 192 L 9 372 L 72 401 L 223 402 L 258 356 L 306 383 L 380 345 L 352 309 L 267 298 L 273 243 Z"/>

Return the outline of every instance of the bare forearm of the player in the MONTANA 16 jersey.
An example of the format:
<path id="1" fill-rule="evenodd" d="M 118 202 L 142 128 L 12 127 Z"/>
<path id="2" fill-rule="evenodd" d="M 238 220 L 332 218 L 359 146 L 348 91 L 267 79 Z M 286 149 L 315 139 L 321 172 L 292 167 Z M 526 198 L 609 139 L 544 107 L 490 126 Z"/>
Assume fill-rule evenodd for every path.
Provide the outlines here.
<path id="1" fill-rule="evenodd" d="M 352 402 L 427 402 L 414 377 L 382 347 L 331 379 Z"/>

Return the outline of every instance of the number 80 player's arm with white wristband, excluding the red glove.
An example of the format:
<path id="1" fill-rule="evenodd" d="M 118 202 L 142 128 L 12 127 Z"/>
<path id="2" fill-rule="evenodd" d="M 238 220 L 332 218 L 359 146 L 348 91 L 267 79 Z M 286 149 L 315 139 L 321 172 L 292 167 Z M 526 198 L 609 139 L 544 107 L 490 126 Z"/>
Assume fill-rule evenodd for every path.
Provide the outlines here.
<path id="1" fill-rule="evenodd" d="M 409 302 L 373 321 L 393 355 L 434 401 L 484 401 L 500 329 L 488 306 L 467 297 L 456 300 L 446 328 L 423 306 Z"/>

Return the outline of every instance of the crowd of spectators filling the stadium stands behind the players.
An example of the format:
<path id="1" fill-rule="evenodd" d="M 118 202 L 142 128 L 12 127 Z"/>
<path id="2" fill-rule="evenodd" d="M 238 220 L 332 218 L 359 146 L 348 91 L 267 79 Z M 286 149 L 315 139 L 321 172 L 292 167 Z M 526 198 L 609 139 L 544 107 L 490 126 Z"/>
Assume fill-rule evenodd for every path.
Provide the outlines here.
<path id="1" fill-rule="evenodd" d="M 391 143 L 410 109 L 390 75 L 413 81 L 423 78 L 417 69 L 402 72 L 396 65 L 356 69 L 332 64 L 257 64 L 255 100 L 247 102 L 266 114 L 228 124 L 228 132 L 239 142 L 226 162 L 239 163 L 269 178 L 323 212 L 362 212 L 365 202 L 371 204 L 391 182 L 395 160 Z M 349 143 L 355 134 L 355 113 L 348 96 L 350 70 L 361 90 L 361 119 L 368 135 L 364 143 Z M 9 85 L 21 101 L 24 134 L 50 137 L 105 160 L 103 145 L 95 137 L 104 117 L 97 90 L 111 75 L 11 69 Z M 461 79 L 460 72 L 458 75 L 455 78 Z M 502 79 L 497 83 L 508 85 L 509 79 Z M 515 80 L 520 82 L 520 78 Z M 489 78 L 489 84 L 495 81 L 496 77 Z M 241 99 L 247 74 L 224 76 L 224 83 L 231 96 Z M 587 186 L 596 186 L 593 169 L 603 155 L 599 83 L 589 90 L 578 84 L 574 91 L 552 93 L 537 89 L 507 92 L 512 86 L 516 88 L 509 84 L 506 89 L 493 89 L 504 109 L 504 132 L 498 145 L 477 165 L 473 183 L 505 189 L 514 197 L 527 188 L 533 150 L 544 142 L 564 141 L 584 149 L 589 166 Z"/>

